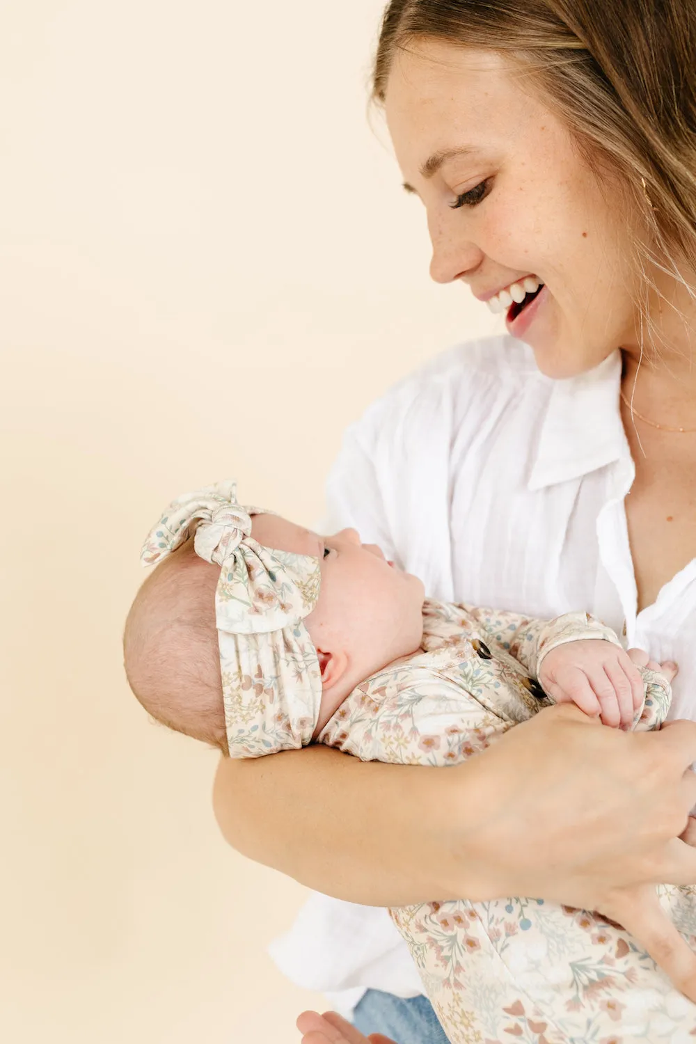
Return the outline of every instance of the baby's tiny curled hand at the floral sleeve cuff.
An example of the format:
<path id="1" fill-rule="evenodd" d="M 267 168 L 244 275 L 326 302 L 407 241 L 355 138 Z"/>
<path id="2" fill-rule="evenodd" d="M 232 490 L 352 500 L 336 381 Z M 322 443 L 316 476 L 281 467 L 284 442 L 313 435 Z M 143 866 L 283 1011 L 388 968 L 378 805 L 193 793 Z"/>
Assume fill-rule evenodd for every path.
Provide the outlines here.
<path id="1" fill-rule="evenodd" d="M 676 674 L 675 664 L 655 663 L 643 649 L 625 652 L 611 642 L 589 638 L 547 652 L 538 680 L 557 704 L 576 704 L 604 725 L 630 729 L 645 693 L 639 666 L 659 671 L 669 682 Z"/>

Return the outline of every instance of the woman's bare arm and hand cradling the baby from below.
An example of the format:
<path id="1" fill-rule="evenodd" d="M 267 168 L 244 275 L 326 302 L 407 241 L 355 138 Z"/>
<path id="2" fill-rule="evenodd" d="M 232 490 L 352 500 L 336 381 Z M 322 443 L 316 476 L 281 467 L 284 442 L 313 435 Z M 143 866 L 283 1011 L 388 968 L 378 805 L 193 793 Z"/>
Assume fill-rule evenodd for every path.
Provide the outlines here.
<path id="1" fill-rule="evenodd" d="M 452 768 L 322 746 L 223 760 L 215 814 L 244 855 L 352 902 L 534 896 L 611 916 L 616 892 L 696 882 L 696 723 L 624 733 L 572 705 Z"/>

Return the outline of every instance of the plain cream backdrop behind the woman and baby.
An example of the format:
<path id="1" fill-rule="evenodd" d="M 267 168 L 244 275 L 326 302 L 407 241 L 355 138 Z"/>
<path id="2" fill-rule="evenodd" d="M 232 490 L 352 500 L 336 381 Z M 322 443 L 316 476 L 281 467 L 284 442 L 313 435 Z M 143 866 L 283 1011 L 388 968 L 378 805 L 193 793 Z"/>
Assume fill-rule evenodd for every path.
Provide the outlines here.
<path id="1" fill-rule="evenodd" d="M 0 7 L 13 1044 L 291 1044 L 321 1003 L 265 953 L 302 887 L 224 845 L 215 757 L 148 723 L 120 628 L 173 495 L 237 476 L 243 498 L 311 521 L 362 407 L 495 329 L 429 282 L 419 205 L 370 130 L 381 8 Z"/>

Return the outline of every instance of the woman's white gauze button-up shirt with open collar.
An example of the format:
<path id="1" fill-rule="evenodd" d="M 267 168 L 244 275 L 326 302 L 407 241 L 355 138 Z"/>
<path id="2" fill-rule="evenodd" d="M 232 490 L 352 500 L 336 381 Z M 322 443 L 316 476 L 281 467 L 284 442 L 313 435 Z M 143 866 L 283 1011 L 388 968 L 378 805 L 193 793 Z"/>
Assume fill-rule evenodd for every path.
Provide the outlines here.
<path id="1" fill-rule="evenodd" d="M 356 528 L 443 601 L 593 613 L 627 645 L 676 661 L 670 717 L 696 719 L 696 560 L 637 612 L 620 381 L 619 352 L 555 381 L 513 338 L 455 348 L 349 429 L 322 531 Z M 423 992 L 385 909 L 314 893 L 270 953 L 346 1016 L 368 989 Z"/>

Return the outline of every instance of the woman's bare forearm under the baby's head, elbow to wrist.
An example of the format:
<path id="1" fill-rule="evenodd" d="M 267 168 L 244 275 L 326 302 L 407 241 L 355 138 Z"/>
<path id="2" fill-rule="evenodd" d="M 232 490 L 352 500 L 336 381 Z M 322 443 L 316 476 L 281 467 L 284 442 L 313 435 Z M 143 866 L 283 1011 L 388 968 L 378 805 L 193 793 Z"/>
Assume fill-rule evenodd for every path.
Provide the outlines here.
<path id="1" fill-rule="evenodd" d="M 266 758 L 223 758 L 214 806 L 243 855 L 351 902 L 403 906 L 466 887 L 448 777 L 363 762 L 320 744 Z M 457 830 L 458 833 L 458 830 Z"/>

